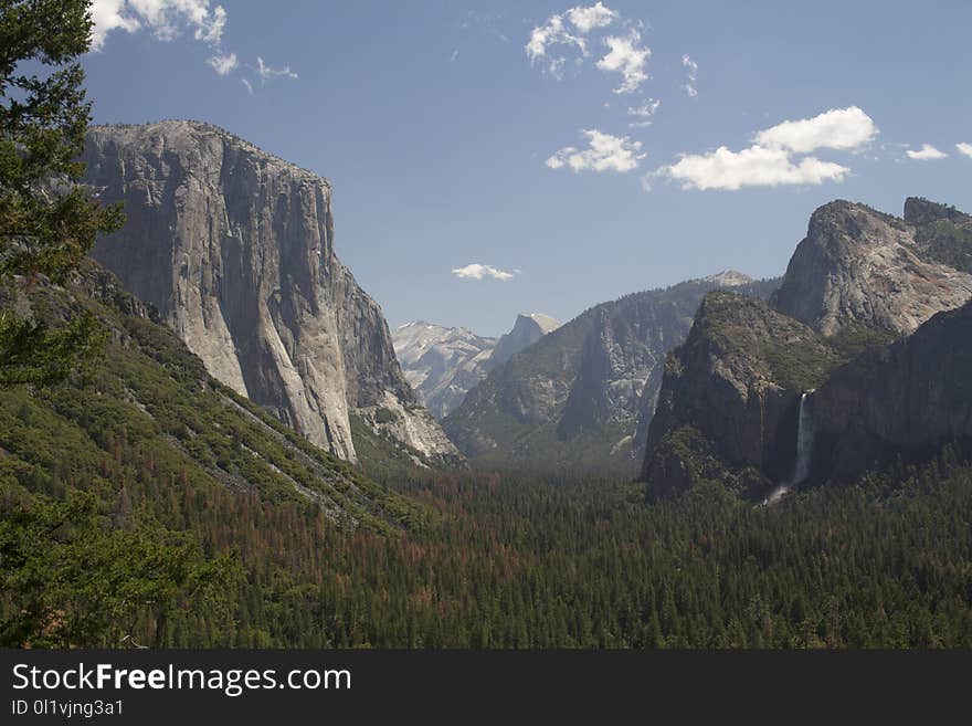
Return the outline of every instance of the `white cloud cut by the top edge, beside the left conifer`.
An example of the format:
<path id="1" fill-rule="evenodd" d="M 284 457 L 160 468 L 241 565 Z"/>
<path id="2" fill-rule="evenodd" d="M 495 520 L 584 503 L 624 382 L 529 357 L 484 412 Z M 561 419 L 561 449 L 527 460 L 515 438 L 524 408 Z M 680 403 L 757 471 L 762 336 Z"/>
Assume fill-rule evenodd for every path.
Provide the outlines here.
<path id="1" fill-rule="evenodd" d="M 169 41 L 188 29 L 196 40 L 218 45 L 226 25 L 226 11 L 210 0 L 94 0 L 91 12 L 93 51 L 104 48 L 113 30 L 134 33 L 146 29 Z"/>

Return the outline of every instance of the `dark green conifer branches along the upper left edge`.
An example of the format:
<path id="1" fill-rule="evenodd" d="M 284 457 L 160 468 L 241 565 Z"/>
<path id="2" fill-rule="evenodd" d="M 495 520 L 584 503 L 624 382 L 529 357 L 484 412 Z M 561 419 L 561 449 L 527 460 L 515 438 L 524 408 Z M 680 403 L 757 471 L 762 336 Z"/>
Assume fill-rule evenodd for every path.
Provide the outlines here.
<path id="1" fill-rule="evenodd" d="M 91 104 L 78 59 L 86 0 L 0 3 L 0 386 L 63 379 L 104 339 L 89 316 L 52 327 L 24 305 L 39 278 L 66 280 L 122 222 L 75 182 Z"/>

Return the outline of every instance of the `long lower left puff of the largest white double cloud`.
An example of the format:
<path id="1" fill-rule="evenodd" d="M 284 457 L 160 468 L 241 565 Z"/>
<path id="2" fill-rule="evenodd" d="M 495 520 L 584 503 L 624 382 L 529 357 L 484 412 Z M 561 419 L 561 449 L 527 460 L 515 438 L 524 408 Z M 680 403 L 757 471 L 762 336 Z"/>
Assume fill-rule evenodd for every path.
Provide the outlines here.
<path id="1" fill-rule="evenodd" d="M 728 189 L 778 187 L 780 185 L 820 185 L 842 181 L 850 169 L 839 164 L 809 156 L 799 164 L 780 148 L 751 146 L 731 151 L 720 146 L 709 154 L 685 155 L 676 164 L 663 167 L 654 176 L 680 181 L 684 189 Z M 646 180 L 647 181 L 647 180 Z"/>

